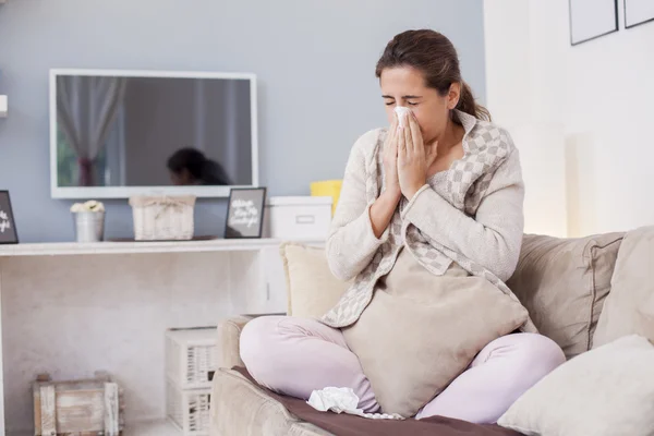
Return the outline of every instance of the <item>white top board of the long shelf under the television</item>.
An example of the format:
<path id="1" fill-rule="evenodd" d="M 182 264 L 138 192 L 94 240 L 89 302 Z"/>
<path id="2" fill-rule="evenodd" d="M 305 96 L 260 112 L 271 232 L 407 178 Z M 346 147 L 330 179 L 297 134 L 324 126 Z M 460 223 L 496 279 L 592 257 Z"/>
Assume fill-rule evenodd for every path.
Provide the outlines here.
<path id="1" fill-rule="evenodd" d="M 294 242 L 322 245 L 325 241 L 295 240 Z M 0 257 L 57 256 L 80 254 L 137 254 L 137 253 L 197 253 L 258 251 L 283 243 L 277 239 L 215 239 L 207 241 L 170 242 L 51 242 L 0 245 Z"/>

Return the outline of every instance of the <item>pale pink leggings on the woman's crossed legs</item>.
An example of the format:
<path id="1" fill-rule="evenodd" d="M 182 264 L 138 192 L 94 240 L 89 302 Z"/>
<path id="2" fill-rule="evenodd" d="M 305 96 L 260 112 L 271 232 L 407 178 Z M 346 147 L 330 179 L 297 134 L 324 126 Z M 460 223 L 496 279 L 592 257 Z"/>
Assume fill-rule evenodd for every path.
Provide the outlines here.
<path id="1" fill-rule="evenodd" d="M 316 389 L 350 387 L 361 399 L 361 409 L 379 411 L 371 384 L 342 332 L 317 320 L 255 318 L 243 329 L 241 358 L 250 374 L 276 392 L 308 399 Z M 565 361 L 561 349 L 544 336 L 501 337 L 488 343 L 416 417 L 440 415 L 495 423 L 523 392 Z"/>

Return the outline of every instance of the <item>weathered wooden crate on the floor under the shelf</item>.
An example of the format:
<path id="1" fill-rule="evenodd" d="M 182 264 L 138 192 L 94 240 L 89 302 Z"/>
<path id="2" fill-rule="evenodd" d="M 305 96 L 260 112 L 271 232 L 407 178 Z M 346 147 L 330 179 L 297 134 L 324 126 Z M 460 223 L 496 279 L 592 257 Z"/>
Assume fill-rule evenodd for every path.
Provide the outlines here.
<path id="1" fill-rule="evenodd" d="M 106 373 L 95 378 L 52 382 L 47 374 L 33 384 L 35 436 L 120 436 L 122 391 Z"/>

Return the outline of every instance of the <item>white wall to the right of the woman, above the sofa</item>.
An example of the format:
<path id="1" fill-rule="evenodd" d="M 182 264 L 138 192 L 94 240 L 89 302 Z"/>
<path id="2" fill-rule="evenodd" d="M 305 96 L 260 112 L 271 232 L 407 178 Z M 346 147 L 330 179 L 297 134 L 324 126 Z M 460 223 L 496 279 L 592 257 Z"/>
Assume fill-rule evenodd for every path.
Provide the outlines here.
<path id="1" fill-rule="evenodd" d="M 568 0 L 484 3 L 488 106 L 528 140 L 517 140 L 528 230 L 654 222 L 654 24 L 625 29 L 619 4 L 620 32 L 571 47 Z"/>

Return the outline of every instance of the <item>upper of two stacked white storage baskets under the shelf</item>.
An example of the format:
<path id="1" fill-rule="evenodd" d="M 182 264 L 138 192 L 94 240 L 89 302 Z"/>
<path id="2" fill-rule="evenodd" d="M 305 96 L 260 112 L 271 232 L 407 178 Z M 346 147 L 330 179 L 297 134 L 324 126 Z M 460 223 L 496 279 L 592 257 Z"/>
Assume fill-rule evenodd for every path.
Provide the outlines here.
<path id="1" fill-rule="evenodd" d="M 166 331 L 166 375 L 180 389 L 209 388 L 218 368 L 217 329 Z"/>

